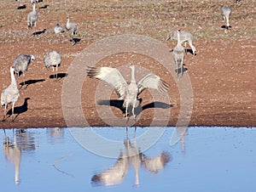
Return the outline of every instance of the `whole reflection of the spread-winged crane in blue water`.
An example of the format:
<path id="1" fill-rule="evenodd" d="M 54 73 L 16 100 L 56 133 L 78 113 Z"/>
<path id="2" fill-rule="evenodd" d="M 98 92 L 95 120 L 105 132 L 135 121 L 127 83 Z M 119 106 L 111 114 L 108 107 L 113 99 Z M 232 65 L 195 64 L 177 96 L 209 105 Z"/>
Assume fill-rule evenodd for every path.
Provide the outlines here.
<path id="1" fill-rule="evenodd" d="M 146 168 L 148 172 L 157 173 L 166 166 L 166 163 L 172 160 L 171 155 L 166 151 L 153 158 L 144 155 L 137 147 L 135 137 L 133 138 L 133 144 L 131 144 L 131 140 L 126 135 L 124 144 L 125 148 L 120 152 L 119 158 L 113 167 L 108 168 L 105 172 L 94 175 L 91 178 L 92 184 L 104 184 L 107 186 L 120 184 L 123 182 L 129 166 L 132 166 L 135 170 L 135 185 L 138 186 L 139 168 L 141 166 Z"/>

